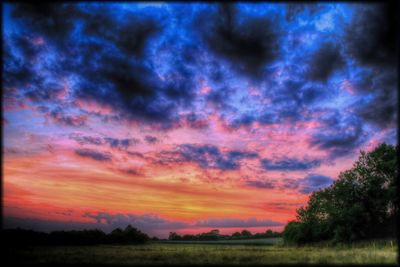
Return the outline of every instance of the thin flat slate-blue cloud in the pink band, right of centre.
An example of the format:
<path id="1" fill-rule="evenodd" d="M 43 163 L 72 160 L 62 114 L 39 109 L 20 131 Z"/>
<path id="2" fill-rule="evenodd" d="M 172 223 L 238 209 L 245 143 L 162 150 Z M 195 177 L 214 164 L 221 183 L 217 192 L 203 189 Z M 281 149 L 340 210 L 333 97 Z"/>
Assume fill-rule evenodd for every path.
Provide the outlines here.
<path id="1" fill-rule="evenodd" d="M 314 160 L 299 160 L 295 158 L 284 158 L 282 160 L 262 159 L 261 166 L 265 170 L 283 170 L 283 171 L 305 171 L 321 165 L 322 161 Z"/>

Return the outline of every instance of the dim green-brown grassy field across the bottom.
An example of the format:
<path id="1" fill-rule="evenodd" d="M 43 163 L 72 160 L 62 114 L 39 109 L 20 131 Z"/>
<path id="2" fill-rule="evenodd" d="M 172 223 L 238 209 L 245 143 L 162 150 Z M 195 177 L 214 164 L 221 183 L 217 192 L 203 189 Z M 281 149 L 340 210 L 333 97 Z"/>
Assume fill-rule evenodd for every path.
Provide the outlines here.
<path id="1" fill-rule="evenodd" d="M 280 244 L 171 244 L 138 246 L 34 247 L 6 251 L 18 264 L 102 265 L 268 265 L 268 264 L 393 264 L 397 245 L 285 247 Z"/>

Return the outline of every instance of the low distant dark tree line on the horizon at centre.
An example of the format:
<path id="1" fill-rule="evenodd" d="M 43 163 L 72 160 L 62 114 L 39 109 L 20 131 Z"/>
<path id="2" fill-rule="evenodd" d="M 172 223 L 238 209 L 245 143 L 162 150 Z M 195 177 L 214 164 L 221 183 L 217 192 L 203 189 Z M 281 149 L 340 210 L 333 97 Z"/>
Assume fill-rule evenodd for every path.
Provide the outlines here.
<path id="1" fill-rule="evenodd" d="M 168 240 L 171 241 L 217 241 L 217 240 L 236 240 L 236 239 L 257 239 L 257 238 L 270 238 L 281 237 L 279 232 L 267 230 L 264 233 L 252 234 L 250 231 L 244 229 L 241 232 L 235 232 L 232 235 L 222 235 L 218 229 L 211 230 L 206 233 L 196 235 L 179 235 L 176 232 L 170 232 Z"/>

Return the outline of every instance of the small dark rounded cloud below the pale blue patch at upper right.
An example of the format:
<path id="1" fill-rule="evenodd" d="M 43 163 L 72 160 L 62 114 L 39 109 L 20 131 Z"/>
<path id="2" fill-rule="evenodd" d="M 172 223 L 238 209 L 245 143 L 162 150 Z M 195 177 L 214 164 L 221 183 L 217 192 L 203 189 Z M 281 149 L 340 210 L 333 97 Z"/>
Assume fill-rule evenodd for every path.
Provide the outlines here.
<path id="1" fill-rule="evenodd" d="M 326 82 L 335 70 L 343 66 L 344 59 L 340 54 L 339 46 L 333 43 L 324 43 L 312 55 L 308 76 L 312 80 Z"/>

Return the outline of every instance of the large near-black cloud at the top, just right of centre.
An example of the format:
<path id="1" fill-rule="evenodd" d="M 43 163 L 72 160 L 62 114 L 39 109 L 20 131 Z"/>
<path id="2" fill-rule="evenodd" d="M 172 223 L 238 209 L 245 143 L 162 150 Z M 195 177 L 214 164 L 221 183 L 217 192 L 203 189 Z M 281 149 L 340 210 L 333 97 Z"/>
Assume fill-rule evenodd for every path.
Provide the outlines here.
<path id="1" fill-rule="evenodd" d="M 232 4 L 204 12 L 197 23 L 207 47 L 240 73 L 260 76 L 279 54 L 279 27 L 267 17 L 242 16 Z"/>

